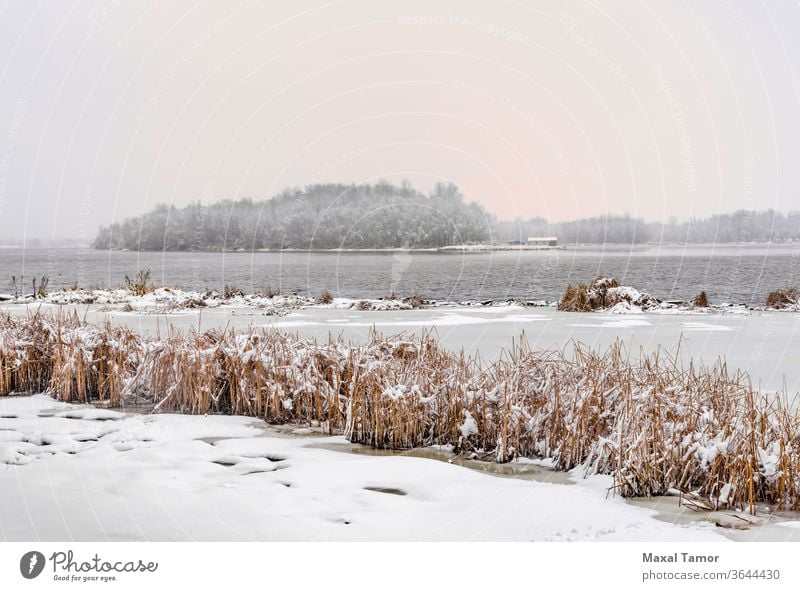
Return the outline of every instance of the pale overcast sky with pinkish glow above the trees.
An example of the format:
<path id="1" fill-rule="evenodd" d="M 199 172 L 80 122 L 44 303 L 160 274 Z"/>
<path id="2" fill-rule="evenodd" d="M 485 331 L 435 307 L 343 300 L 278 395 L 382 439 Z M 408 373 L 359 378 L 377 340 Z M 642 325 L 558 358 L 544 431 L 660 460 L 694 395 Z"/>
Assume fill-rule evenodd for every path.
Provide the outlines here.
<path id="1" fill-rule="evenodd" d="M 501 219 L 800 209 L 800 5 L 0 4 L 0 242 L 316 182 Z"/>

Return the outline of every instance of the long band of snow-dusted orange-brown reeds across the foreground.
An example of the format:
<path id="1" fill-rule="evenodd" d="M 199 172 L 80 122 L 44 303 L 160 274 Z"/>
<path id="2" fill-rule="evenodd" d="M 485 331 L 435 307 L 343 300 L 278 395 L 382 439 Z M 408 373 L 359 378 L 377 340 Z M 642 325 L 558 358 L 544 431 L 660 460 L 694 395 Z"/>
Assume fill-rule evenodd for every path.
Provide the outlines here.
<path id="1" fill-rule="evenodd" d="M 375 447 L 550 458 L 610 474 L 624 496 L 674 490 L 711 506 L 800 509 L 800 409 L 755 390 L 724 361 L 683 365 L 575 345 L 516 344 L 491 364 L 431 335 L 365 344 L 267 330 L 143 338 L 77 316 L 0 318 L 0 395 L 144 403 L 270 423 L 319 422 Z"/>

